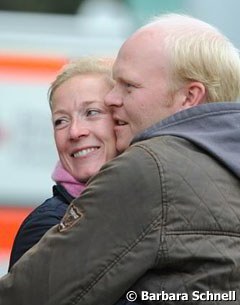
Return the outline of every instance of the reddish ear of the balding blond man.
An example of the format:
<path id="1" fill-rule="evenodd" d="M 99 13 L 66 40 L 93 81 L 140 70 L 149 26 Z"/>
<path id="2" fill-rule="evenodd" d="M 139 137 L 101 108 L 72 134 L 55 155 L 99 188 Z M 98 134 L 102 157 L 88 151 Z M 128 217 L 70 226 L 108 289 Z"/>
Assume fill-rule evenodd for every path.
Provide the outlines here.
<path id="1" fill-rule="evenodd" d="M 200 82 L 191 82 L 185 87 L 185 99 L 182 102 L 182 108 L 187 109 L 197 106 L 206 101 L 206 88 Z"/>

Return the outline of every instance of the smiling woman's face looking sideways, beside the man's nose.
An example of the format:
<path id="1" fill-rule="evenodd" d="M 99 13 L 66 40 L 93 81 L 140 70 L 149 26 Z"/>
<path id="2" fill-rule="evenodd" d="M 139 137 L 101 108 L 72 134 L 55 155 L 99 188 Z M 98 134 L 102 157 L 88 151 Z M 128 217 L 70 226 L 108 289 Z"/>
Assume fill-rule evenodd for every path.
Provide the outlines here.
<path id="1" fill-rule="evenodd" d="M 54 137 L 63 167 L 86 182 L 116 156 L 114 121 L 104 97 L 112 89 L 100 74 L 74 76 L 53 94 Z"/>

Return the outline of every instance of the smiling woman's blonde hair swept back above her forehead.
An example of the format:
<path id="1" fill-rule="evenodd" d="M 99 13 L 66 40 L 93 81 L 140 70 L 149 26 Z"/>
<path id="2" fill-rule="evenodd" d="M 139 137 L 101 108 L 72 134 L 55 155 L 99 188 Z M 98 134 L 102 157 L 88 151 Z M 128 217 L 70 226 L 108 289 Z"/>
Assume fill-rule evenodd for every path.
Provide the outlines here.
<path id="1" fill-rule="evenodd" d="M 112 57 L 89 56 L 75 59 L 64 65 L 48 90 L 50 108 L 52 108 L 52 99 L 56 89 L 65 81 L 74 76 L 85 74 L 101 74 L 106 76 L 106 81 L 109 81 L 109 83 L 113 85 L 112 66 L 114 60 L 115 59 Z"/>

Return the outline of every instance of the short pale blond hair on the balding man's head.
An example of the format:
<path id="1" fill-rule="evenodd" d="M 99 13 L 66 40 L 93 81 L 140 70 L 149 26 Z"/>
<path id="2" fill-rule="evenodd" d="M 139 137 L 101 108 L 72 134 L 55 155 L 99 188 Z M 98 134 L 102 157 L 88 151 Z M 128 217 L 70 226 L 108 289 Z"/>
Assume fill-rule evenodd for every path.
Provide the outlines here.
<path id="1" fill-rule="evenodd" d="M 173 92 L 189 81 L 199 81 L 207 90 L 206 102 L 239 99 L 239 50 L 215 27 L 178 14 L 156 17 L 147 26 L 152 25 L 166 29 Z"/>

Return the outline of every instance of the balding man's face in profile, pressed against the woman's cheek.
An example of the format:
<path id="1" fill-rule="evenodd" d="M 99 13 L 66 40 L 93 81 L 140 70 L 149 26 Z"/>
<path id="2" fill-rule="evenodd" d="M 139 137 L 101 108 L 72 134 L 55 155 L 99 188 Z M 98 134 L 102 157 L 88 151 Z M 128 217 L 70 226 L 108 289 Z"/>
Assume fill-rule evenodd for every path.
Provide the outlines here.
<path id="1" fill-rule="evenodd" d="M 169 60 L 161 39 L 149 30 L 128 39 L 113 67 L 114 88 L 105 97 L 116 121 L 117 149 L 125 150 L 133 137 L 177 112 L 169 90 Z M 160 41 L 160 43 L 159 43 Z"/>

